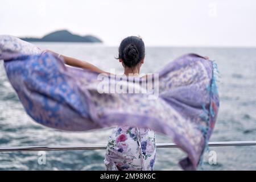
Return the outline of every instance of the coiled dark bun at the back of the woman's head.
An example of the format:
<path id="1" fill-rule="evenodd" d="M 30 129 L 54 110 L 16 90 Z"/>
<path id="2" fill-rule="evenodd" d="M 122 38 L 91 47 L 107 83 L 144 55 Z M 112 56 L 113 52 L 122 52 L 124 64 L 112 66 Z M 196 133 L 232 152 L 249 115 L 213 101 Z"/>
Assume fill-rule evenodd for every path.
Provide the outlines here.
<path id="1" fill-rule="evenodd" d="M 139 51 L 134 44 L 129 44 L 123 49 L 123 58 L 128 67 L 134 67 L 139 63 Z"/>

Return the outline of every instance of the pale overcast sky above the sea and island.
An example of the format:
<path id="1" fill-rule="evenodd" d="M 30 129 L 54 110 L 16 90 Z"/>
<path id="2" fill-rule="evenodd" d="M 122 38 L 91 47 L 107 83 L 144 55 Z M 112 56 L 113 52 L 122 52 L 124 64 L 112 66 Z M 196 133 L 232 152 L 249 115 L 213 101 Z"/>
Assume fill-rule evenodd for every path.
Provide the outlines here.
<path id="1" fill-rule="evenodd" d="M 256 1 L 1 0 L 0 34 L 61 29 L 113 46 L 140 35 L 150 46 L 256 47 Z"/>

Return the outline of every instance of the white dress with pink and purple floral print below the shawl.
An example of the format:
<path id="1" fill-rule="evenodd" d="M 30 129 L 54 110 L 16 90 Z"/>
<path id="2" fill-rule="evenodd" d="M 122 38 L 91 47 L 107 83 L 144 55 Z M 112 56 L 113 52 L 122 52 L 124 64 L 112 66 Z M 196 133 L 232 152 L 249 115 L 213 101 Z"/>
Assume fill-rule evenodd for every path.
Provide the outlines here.
<path id="1" fill-rule="evenodd" d="M 154 131 L 123 126 L 109 137 L 104 163 L 108 171 L 152 171 L 155 156 Z"/>

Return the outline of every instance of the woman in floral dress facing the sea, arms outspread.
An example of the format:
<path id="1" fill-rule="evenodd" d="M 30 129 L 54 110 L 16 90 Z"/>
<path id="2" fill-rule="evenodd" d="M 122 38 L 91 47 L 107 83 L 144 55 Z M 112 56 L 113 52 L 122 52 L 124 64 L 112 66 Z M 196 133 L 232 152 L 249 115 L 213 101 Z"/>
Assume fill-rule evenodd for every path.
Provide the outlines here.
<path id="1" fill-rule="evenodd" d="M 49 51 L 52 52 L 52 51 Z M 55 53 L 55 52 L 52 52 Z M 61 56 L 65 63 L 73 67 L 90 69 L 98 73 L 107 73 L 100 68 Z M 145 46 L 141 38 L 129 36 L 119 46 L 118 60 L 122 63 L 126 76 L 138 76 L 144 63 Z M 153 170 L 155 164 L 155 133 L 149 129 L 137 127 L 117 127 L 109 137 L 104 163 L 107 170 Z"/>

